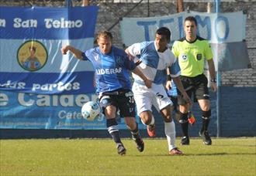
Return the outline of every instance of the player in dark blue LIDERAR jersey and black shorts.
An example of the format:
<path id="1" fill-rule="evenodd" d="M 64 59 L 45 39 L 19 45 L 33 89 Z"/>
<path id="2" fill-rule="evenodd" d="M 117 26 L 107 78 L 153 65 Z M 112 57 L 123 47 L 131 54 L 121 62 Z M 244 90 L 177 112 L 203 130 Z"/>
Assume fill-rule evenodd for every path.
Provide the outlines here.
<path id="1" fill-rule="evenodd" d="M 121 117 L 129 127 L 137 149 L 144 151 L 144 141 L 140 137 L 138 125 L 135 120 L 135 103 L 129 70 L 140 76 L 144 84 L 150 88 L 151 81 L 140 72 L 136 64 L 128 59 L 123 49 L 112 46 L 112 34 L 99 32 L 97 37 L 98 47 L 81 52 L 72 46 L 64 46 L 63 54 L 73 52 L 78 59 L 89 60 L 95 69 L 96 92 L 99 94 L 99 103 L 106 116 L 106 127 L 112 139 L 116 142 L 117 152 L 126 154 L 126 148 L 119 137 L 119 128 L 116 122 L 116 111 L 119 109 Z"/>

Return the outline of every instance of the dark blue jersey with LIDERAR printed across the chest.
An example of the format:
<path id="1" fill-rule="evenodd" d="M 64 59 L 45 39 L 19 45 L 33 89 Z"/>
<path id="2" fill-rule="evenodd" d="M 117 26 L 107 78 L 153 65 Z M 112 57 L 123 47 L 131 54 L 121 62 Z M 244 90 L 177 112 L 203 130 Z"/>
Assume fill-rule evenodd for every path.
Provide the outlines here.
<path id="1" fill-rule="evenodd" d="M 91 61 L 95 69 L 97 93 L 118 89 L 130 90 L 128 70 L 135 69 L 136 65 L 128 59 L 126 52 L 122 49 L 112 46 L 111 52 L 104 55 L 98 46 L 83 52 L 82 57 L 84 60 Z"/>

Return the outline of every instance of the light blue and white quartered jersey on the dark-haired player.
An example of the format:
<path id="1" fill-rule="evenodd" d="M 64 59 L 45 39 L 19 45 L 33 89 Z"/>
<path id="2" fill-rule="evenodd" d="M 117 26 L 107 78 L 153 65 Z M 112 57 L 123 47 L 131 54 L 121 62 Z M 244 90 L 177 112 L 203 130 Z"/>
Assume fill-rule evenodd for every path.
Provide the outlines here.
<path id="1" fill-rule="evenodd" d="M 171 77 L 179 76 L 181 69 L 178 66 L 178 60 L 175 58 L 171 49 L 166 49 L 164 52 L 157 52 L 157 47 L 154 41 L 134 43 L 128 47 L 134 59 L 141 59 L 142 63 L 138 68 L 144 73 L 149 80 L 155 84 L 166 82 L 166 69 L 171 66 Z M 141 81 L 141 78 L 133 74 L 135 81 Z"/>

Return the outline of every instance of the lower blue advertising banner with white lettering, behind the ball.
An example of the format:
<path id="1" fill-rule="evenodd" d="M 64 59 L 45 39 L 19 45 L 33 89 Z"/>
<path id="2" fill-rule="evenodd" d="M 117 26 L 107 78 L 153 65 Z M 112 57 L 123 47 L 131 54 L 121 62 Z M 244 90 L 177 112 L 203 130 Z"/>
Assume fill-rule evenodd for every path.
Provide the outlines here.
<path id="1" fill-rule="evenodd" d="M 90 100 L 96 101 L 93 93 L 46 95 L 0 91 L 0 128 L 2 129 L 72 129 L 106 130 L 106 118 L 85 120 L 81 107 Z M 127 129 L 123 118 L 118 119 L 119 129 Z M 139 117 L 137 122 L 140 128 Z"/>

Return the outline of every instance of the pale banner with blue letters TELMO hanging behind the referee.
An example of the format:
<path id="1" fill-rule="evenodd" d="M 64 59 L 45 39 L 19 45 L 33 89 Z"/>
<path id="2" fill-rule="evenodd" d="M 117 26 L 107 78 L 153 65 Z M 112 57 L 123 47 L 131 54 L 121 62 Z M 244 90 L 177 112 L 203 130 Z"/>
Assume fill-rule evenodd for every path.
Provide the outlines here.
<path id="1" fill-rule="evenodd" d="M 154 40 L 156 30 L 162 26 L 171 29 L 172 44 L 184 36 L 183 22 L 189 15 L 195 16 L 198 22 L 198 35 L 209 40 L 212 44 L 216 69 L 225 71 L 246 69 L 250 66 L 250 59 L 244 42 L 246 15 L 243 12 L 181 12 L 150 18 L 123 18 L 120 23 L 123 44 L 130 46 L 135 42 Z M 235 48 L 240 49 L 239 55 L 234 54 L 232 49 Z M 231 66 L 225 63 L 231 63 Z"/>

